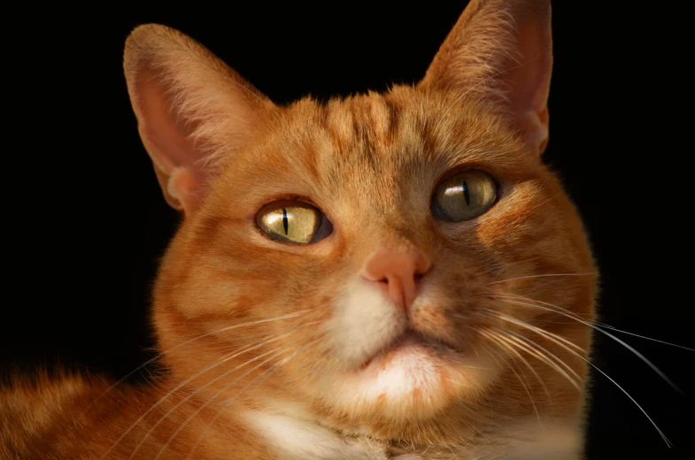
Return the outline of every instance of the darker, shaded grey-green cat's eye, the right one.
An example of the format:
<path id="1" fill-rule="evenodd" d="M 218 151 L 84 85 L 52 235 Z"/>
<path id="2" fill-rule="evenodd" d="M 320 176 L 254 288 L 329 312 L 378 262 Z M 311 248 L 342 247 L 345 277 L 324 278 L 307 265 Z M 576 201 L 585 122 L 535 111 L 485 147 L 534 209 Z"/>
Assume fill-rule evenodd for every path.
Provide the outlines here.
<path id="1" fill-rule="evenodd" d="M 432 214 L 450 222 L 475 219 L 497 199 L 497 183 L 490 174 L 469 169 L 437 184 L 432 196 Z"/>

